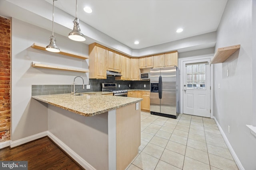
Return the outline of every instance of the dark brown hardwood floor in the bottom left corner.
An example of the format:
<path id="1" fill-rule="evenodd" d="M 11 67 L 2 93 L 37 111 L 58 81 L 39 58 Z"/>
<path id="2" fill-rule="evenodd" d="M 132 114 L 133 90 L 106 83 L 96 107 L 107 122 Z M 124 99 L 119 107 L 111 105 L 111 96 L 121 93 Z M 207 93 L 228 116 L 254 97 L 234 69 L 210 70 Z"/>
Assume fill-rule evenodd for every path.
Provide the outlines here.
<path id="1" fill-rule="evenodd" d="M 48 137 L 1 149 L 0 160 L 28 161 L 28 170 L 83 170 Z"/>

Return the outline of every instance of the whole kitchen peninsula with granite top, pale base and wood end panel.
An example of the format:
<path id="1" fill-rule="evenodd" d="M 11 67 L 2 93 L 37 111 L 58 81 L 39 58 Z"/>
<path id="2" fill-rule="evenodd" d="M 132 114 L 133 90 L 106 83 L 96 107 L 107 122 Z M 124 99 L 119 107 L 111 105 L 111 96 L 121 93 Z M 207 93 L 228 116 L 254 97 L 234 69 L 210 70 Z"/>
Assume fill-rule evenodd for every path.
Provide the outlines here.
<path id="1" fill-rule="evenodd" d="M 108 93 L 32 96 L 47 104 L 48 136 L 86 170 L 124 170 L 138 154 L 142 99 Z"/>

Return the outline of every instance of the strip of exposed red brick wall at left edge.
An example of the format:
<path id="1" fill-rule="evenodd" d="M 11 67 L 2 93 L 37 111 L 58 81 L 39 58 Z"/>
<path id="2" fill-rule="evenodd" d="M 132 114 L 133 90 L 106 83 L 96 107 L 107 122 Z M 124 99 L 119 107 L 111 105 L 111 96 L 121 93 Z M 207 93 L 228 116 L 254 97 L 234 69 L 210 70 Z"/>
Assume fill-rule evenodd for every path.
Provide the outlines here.
<path id="1" fill-rule="evenodd" d="M 10 140 L 10 26 L 0 16 L 0 143 Z"/>

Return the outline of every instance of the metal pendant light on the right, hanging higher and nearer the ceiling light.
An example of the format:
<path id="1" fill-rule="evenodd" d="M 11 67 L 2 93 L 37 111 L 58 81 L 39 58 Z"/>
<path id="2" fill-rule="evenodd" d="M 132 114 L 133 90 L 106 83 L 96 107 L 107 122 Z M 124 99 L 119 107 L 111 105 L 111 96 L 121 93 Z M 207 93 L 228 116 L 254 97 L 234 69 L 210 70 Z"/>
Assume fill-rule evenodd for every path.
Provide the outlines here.
<path id="1" fill-rule="evenodd" d="M 77 16 L 77 0 L 76 0 L 76 16 Z M 79 20 L 77 17 L 74 19 L 73 23 L 74 23 L 74 28 L 73 28 L 73 31 L 71 31 L 68 34 L 68 38 L 70 38 L 74 41 L 85 41 L 85 37 L 84 37 L 84 34 L 80 30 Z"/>

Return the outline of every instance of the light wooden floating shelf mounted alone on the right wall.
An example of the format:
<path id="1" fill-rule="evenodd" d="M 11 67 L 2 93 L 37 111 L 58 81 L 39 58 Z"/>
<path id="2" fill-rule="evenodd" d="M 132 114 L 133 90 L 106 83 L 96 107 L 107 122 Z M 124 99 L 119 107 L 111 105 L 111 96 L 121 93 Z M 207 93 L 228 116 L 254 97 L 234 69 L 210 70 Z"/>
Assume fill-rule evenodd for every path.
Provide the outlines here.
<path id="1" fill-rule="evenodd" d="M 240 49 L 240 45 L 233 45 L 230 47 L 219 48 L 214 54 L 210 64 L 223 63 L 224 61 L 226 61 L 226 59 L 228 59 L 228 57 L 234 54 L 238 49 Z"/>

